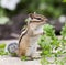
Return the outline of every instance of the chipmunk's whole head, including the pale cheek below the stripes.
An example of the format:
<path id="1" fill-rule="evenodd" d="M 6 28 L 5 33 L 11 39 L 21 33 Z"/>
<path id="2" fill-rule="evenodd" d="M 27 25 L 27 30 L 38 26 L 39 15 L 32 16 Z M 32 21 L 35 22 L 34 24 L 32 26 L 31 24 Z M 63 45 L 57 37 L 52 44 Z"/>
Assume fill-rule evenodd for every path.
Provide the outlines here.
<path id="1" fill-rule="evenodd" d="M 29 18 L 30 18 L 30 24 L 33 28 L 43 25 L 43 24 L 47 23 L 47 21 L 48 21 L 46 17 L 44 17 L 42 14 L 37 14 L 35 12 L 30 13 Z"/>

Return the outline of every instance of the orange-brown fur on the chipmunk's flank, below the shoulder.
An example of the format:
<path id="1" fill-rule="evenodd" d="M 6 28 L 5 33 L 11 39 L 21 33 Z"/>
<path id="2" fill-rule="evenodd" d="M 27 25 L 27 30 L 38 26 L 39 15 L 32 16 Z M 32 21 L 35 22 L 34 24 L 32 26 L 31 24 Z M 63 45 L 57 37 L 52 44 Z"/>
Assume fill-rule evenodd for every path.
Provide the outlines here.
<path id="1" fill-rule="evenodd" d="M 30 45 L 30 36 L 32 34 L 32 31 L 28 31 L 28 33 L 22 37 L 20 45 L 19 45 L 19 56 L 25 55 L 26 50 Z"/>

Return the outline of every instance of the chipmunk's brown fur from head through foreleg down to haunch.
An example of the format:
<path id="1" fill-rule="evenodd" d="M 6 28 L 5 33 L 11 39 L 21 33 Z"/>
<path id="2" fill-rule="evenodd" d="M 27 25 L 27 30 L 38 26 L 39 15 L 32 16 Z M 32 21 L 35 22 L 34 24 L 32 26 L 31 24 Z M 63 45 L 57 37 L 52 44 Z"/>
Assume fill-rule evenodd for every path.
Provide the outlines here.
<path id="1" fill-rule="evenodd" d="M 34 34 L 33 32 L 38 25 L 44 24 L 47 19 L 45 17 L 41 15 L 41 14 L 34 14 L 34 13 L 30 14 L 30 18 L 32 18 L 32 19 L 34 19 L 34 18 L 36 19 L 36 18 L 40 18 L 40 17 L 41 17 L 41 20 L 38 22 L 36 20 L 31 20 L 31 23 L 28 23 L 28 32 L 24 36 L 22 36 L 22 39 L 19 43 L 18 56 L 22 56 L 22 55 L 26 54 L 26 50 L 30 46 L 31 36 L 42 34 L 42 33 Z"/>

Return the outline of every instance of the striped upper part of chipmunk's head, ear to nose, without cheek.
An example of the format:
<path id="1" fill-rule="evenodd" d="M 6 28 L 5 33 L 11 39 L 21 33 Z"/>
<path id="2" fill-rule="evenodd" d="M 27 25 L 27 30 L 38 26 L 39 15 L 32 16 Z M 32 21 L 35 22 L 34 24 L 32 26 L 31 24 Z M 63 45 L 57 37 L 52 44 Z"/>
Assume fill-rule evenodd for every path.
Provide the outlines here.
<path id="1" fill-rule="evenodd" d="M 46 23 L 48 20 L 46 17 L 42 15 L 42 14 L 37 14 L 37 13 L 30 13 L 29 17 L 31 18 L 31 22 L 34 22 L 34 23 Z"/>

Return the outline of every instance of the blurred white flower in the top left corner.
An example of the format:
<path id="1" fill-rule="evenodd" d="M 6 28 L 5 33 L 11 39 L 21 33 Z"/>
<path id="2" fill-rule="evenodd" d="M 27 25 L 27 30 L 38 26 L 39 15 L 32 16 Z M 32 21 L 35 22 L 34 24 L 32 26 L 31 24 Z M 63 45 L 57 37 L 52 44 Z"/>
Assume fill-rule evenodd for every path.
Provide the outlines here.
<path id="1" fill-rule="evenodd" d="M 1 7 L 9 10 L 14 10 L 19 2 L 20 0 L 1 0 Z"/>

